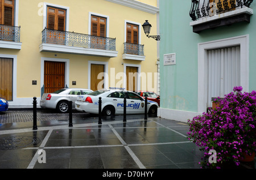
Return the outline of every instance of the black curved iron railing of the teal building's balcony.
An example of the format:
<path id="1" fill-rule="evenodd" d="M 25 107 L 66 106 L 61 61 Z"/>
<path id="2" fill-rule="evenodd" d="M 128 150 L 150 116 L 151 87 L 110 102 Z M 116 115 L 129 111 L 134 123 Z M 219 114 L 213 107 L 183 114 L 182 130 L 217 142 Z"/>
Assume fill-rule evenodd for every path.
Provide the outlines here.
<path id="1" fill-rule="evenodd" d="M 189 15 L 195 21 L 237 8 L 250 7 L 252 2 L 253 0 L 192 0 Z"/>

